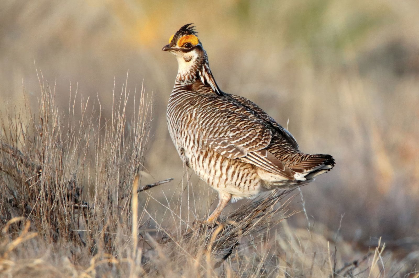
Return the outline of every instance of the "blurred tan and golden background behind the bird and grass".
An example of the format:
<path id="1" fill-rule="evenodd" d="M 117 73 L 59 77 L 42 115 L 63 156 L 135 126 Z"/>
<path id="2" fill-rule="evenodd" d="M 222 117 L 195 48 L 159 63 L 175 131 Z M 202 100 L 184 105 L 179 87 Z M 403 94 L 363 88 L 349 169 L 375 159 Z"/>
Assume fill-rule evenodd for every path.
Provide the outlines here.
<path id="1" fill-rule="evenodd" d="M 223 91 L 289 121 L 304 152 L 335 157 L 333 171 L 301 188 L 295 206 L 305 204 L 308 218 L 297 214 L 292 225 L 340 227 L 359 247 L 380 236 L 387 247 L 419 247 L 417 1 L 5 0 L 0 109 L 23 103 L 23 87 L 36 107 L 37 68 L 64 111 L 71 86 L 98 98 L 106 115 L 129 72 L 129 90 L 143 83 L 154 95 L 142 183 L 174 178 L 153 189 L 163 200 L 186 186 L 186 170 L 166 126 L 177 62 L 161 48 L 186 23 L 197 26 Z"/>

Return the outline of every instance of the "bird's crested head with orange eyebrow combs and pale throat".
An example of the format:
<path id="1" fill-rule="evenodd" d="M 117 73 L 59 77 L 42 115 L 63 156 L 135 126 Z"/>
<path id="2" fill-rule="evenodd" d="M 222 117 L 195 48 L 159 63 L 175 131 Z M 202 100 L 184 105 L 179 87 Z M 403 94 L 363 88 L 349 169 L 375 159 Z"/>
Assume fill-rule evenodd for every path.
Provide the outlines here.
<path id="1" fill-rule="evenodd" d="M 178 60 L 178 74 L 186 75 L 197 71 L 205 62 L 206 53 L 198 39 L 197 32 L 192 23 L 182 26 L 174 33 L 169 44 L 163 47 L 163 51 L 169 51 Z"/>

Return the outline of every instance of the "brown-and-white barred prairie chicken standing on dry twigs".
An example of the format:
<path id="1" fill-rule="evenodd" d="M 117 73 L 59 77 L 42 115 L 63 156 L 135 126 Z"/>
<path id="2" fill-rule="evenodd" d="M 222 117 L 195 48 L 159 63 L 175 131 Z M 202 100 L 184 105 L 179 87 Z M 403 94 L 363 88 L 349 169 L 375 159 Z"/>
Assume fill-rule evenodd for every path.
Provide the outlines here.
<path id="1" fill-rule="evenodd" d="M 207 222 L 230 200 L 294 188 L 332 169 L 328 154 L 305 154 L 294 137 L 247 98 L 220 90 L 194 26 L 186 24 L 163 51 L 178 60 L 167 106 L 170 136 L 181 160 L 218 191 Z"/>

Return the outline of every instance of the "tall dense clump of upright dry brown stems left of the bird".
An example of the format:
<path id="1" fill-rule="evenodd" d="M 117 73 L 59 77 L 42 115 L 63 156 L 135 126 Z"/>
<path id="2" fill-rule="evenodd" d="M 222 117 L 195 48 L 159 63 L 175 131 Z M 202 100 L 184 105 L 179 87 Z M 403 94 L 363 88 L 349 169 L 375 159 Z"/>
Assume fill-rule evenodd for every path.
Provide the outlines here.
<path id="1" fill-rule="evenodd" d="M 77 103 L 75 92 L 70 113 L 64 115 L 54 102 L 55 92 L 42 79 L 40 85 L 39 111 L 14 107 L 0 117 L 3 242 L 12 240 L 13 246 L 27 239 L 19 232 L 25 227 L 21 234 L 27 234 L 30 223 L 45 244 L 60 246 L 73 261 L 83 260 L 81 250 L 89 257 L 126 255 L 132 207 L 130 198 L 123 197 L 142 171 L 151 99 L 143 91 L 136 95 L 123 88 L 106 119 L 100 102 L 81 97 Z M 138 113 L 127 116 L 128 103 Z M 8 222 L 16 217 L 24 221 Z M 6 250 L 4 256 L 11 251 L 9 246 Z"/>

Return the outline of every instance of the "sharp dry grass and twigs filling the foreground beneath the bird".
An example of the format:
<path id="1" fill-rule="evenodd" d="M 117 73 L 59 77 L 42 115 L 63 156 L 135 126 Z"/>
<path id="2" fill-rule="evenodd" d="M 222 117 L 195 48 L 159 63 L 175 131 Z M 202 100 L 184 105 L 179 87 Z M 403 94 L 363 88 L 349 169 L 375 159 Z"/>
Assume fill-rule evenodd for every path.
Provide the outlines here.
<path id="1" fill-rule="evenodd" d="M 160 203 L 160 219 L 148 205 L 150 188 L 170 179 L 140 188 L 151 121 L 144 90 L 136 96 L 123 87 L 106 119 L 100 103 L 76 93 L 64 115 L 54 90 L 42 79 L 40 85 L 39 111 L 13 107 L 0 117 L 0 276 L 414 275 L 414 253 L 396 260 L 380 241 L 375 252 L 359 252 L 339 231 L 328 239 L 290 228 L 295 190 L 248 201 L 215 226 L 183 219 L 182 193 Z M 127 115 L 128 105 L 138 112 Z M 190 184 L 182 186 L 186 192 Z M 203 198 L 187 197 L 187 204 L 192 210 Z"/>

